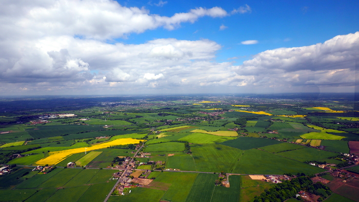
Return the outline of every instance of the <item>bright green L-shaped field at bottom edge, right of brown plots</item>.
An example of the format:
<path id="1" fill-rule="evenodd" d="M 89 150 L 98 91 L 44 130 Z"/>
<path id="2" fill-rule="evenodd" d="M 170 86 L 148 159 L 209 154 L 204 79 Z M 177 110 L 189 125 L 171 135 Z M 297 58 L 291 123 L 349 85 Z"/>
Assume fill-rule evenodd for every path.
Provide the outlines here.
<path id="1" fill-rule="evenodd" d="M 185 202 L 198 173 L 163 172 L 153 181 L 171 184 L 162 200 Z"/>

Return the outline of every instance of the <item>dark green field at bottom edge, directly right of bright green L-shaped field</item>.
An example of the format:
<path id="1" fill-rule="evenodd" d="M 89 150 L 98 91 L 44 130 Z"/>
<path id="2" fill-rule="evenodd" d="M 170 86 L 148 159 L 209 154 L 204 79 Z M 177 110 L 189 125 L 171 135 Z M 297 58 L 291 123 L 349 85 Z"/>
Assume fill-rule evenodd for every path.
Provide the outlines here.
<path id="1" fill-rule="evenodd" d="M 198 174 L 186 202 L 211 201 L 214 191 L 214 180 L 217 176 L 217 174 Z"/>

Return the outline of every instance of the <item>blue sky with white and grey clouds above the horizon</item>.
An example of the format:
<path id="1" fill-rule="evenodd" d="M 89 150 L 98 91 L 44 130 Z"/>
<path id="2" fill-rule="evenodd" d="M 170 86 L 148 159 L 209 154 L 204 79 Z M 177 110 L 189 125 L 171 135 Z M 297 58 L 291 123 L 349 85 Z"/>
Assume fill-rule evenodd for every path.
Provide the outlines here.
<path id="1" fill-rule="evenodd" d="M 359 92 L 357 8 L 3 0 L 0 95 Z"/>

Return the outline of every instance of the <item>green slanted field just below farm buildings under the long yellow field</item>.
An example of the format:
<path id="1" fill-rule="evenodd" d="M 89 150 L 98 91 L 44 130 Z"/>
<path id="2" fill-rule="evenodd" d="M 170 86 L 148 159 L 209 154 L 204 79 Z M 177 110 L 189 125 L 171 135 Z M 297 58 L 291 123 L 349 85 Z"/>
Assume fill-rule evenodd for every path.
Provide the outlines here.
<path id="1" fill-rule="evenodd" d="M 39 186 L 39 188 L 62 187 L 81 171 L 82 169 L 63 169 L 62 171 L 52 176 L 50 179 L 46 180 L 43 184 Z"/>

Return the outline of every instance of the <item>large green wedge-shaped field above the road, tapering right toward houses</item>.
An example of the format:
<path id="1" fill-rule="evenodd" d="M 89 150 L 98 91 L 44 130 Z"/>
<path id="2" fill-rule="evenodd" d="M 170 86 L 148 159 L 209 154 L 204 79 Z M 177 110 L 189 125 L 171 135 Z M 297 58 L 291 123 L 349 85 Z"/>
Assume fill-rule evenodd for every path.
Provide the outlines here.
<path id="1" fill-rule="evenodd" d="M 258 149 L 244 151 L 243 156 L 237 162 L 232 173 L 282 175 L 303 172 L 309 175 L 325 171 L 322 168 Z"/>

